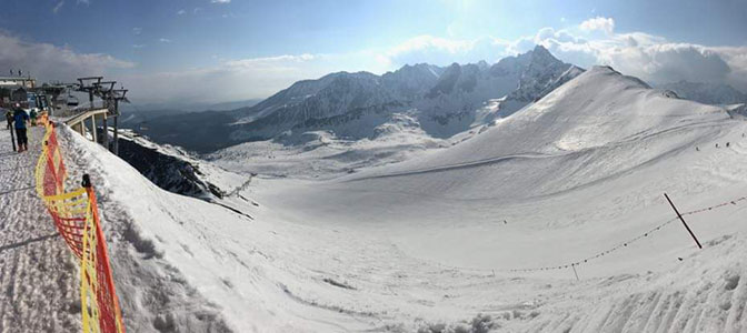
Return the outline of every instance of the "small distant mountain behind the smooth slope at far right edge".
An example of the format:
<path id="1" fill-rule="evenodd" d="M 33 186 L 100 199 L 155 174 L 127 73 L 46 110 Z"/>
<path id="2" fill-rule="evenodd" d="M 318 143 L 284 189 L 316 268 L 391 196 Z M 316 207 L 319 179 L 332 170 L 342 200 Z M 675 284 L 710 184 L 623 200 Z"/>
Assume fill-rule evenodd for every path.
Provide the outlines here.
<path id="1" fill-rule="evenodd" d="M 660 84 L 658 88 L 671 90 L 680 98 L 704 104 L 747 103 L 747 93 L 726 83 L 679 81 Z"/>

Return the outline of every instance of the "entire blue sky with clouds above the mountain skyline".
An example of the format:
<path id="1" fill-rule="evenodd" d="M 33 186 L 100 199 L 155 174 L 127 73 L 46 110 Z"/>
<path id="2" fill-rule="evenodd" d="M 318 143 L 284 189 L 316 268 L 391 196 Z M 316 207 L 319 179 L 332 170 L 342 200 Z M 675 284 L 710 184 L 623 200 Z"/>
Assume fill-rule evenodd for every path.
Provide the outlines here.
<path id="1" fill-rule="evenodd" d="M 745 0 L 2 0 L 2 8 L 0 70 L 58 80 L 103 73 L 148 102 L 262 98 L 331 71 L 495 62 L 535 44 L 649 81 L 747 90 Z"/>

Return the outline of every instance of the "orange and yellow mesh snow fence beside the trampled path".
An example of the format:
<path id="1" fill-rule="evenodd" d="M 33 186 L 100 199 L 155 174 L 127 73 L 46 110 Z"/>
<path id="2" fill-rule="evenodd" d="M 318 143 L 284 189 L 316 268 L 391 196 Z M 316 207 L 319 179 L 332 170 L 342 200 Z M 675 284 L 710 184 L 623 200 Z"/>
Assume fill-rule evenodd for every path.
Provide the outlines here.
<path id="1" fill-rule="evenodd" d="M 123 333 L 124 325 L 93 186 L 88 175 L 84 175 L 81 188 L 66 192 L 67 171 L 54 125 L 47 117 L 41 120 L 46 132 L 36 168 L 36 188 L 60 235 L 80 260 L 83 332 Z"/>

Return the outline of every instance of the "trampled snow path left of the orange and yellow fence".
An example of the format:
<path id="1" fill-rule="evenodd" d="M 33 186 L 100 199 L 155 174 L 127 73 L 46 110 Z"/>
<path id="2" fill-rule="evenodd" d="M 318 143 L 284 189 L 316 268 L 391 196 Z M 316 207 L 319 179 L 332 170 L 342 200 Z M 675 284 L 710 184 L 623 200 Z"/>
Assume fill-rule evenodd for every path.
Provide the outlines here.
<path id="1" fill-rule="evenodd" d="M 0 130 L 0 332 L 80 331 L 78 265 L 34 190 L 42 135 L 17 153 Z"/>

